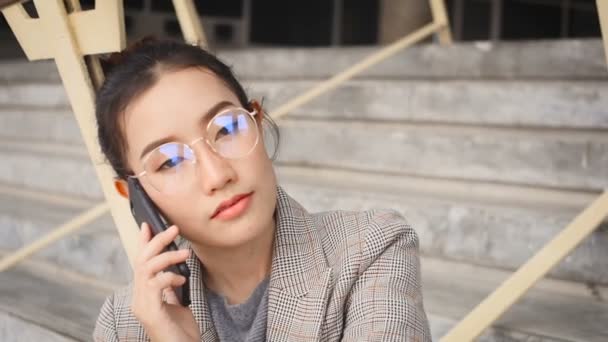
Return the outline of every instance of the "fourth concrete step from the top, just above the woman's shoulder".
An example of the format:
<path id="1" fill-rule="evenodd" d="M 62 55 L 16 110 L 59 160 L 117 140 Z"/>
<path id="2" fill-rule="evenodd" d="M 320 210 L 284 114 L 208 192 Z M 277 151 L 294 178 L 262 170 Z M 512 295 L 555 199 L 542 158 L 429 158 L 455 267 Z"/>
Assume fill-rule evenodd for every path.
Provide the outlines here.
<path id="1" fill-rule="evenodd" d="M 328 168 L 278 166 L 277 172 L 280 183 L 311 211 L 394 208 L 415 227 L 424 254 L 510 270 L 537 252 L 596 195 Z M 23 246 L 96 202 L 55 192 L 27 191 L 0 186 L 0 222 L 7 227 L 7 238 L 0 240 L 2 249 Z M 608 284 L 606 246 L 608 232 L 598 230 L 551 276 Z M 109 215 L 37 257 L 119 282 L 130 276 Z M 91 260 L 103 262 L 92 266 Z"/>

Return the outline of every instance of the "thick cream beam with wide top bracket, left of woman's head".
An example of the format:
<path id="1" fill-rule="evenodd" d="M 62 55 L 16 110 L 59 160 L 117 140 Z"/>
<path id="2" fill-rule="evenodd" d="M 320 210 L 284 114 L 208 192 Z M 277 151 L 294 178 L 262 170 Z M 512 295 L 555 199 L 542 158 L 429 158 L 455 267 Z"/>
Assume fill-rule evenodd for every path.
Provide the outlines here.
<path id="1" fill-rule="evenodd" d="M 139 229 L 128 202 L 114 189 L 114 171 L 104 162 L 96 139 L 95 87 L 84 61 L 86 54 L 124 48 L 124 25 L 119 24 L 123 22 L 122 0 L 97 1 L 95 10 L 69 15 L 63 0 L 34 0 L 34 4 L 39 15 L 37 19 L 30 18 L 20 4 L 5 8 L 3 14 L 28 58 L 55 60 L 89 157 L 132 264 Z M 84 45 L 84 49 L 80 44 Z"/>

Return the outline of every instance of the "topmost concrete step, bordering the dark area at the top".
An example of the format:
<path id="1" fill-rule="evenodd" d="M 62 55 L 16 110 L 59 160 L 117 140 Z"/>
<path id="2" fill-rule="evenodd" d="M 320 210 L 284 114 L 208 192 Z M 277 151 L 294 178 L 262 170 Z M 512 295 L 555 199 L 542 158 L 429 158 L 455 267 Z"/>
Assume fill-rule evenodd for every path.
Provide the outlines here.
<path id="1" fill-rule="evenodd" d="M 318 79 L 378 48 L 247 48 L 218 54 L 244 79 Z M 362 78 L 608 79 L 608 73 L 600 39 L 573 39 L 421 44 L 374 66 Z M 0 64 L 0 83 L 58 80 L 51 62 Z"/>

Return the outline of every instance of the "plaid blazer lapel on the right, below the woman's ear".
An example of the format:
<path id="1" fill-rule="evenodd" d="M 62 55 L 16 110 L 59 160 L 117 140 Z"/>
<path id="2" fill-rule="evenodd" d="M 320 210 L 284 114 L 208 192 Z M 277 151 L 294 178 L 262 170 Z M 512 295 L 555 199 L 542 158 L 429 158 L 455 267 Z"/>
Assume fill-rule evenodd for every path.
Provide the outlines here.
<path id="1" fill-rule="evenodd" d="M 277 187 L 276 235 L 268 294 L 267 339 L 318 340 L 331 269 L 313 217 Z"/>

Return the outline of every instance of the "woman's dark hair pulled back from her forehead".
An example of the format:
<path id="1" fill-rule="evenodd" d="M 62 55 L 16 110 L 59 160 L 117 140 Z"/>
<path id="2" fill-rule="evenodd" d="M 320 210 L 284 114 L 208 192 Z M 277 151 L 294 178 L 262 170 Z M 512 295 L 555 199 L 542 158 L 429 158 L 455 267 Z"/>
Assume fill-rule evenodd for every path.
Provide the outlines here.
<path id="1" fill-rule="evenodd" d="M 103 154 L 119 178 L 125 179 L 130 173 L 126 161 L 127 139 L 124 125 L 121 124 L 124 123 L 127 106 L 154 86 L 165 72 L 193 67 L 211 71 L 236 95 L 241 106 L 251 110 L 247 94 L 231 68 L 200 47 L 172 40 L 145 38 L 125 51 L 102 59 L 106 79 L 97 93 L 95 104 L 97 135 Z M 274 160 L 279 129 L 265 113 L 263 123 L 267 124 L 272 134 L 275 146 L 271 158 Z"/>

